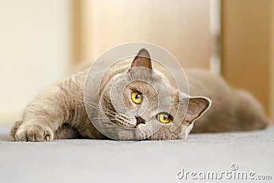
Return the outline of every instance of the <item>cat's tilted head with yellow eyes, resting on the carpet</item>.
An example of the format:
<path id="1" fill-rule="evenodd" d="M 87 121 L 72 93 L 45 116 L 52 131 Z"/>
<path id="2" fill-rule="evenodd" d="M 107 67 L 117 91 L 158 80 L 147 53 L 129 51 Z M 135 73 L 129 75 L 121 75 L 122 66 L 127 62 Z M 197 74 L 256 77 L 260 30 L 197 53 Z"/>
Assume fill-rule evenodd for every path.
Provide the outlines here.
<path id="1" fill-rule="evenodd" d="M 147 49 L 140 49 L 131 66 L 105 84 L 100 103 L 110 121 L 123 129 L 112 132 L 120 140 L 184 139 L 210 108 L 208 98 L 173 88 L 153 69 Z M 172 125 L 177 125 L 175 130 Z"/>

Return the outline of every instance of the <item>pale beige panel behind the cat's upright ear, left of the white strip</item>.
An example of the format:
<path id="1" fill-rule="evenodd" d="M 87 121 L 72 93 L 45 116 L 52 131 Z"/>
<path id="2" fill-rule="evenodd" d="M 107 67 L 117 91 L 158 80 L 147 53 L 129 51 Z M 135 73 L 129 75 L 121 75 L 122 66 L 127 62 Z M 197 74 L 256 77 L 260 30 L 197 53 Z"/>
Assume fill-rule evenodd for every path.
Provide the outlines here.
<path id="1" fill-rule="evenodd" d="M 94 60 L 125 42 L 164 47 L 182 66 L 209 68 L 209 1 L 77 1 L 82 7 L 82 40 L 77 60 Z M 76 22 L 77 23 L 77 22 Z"/>

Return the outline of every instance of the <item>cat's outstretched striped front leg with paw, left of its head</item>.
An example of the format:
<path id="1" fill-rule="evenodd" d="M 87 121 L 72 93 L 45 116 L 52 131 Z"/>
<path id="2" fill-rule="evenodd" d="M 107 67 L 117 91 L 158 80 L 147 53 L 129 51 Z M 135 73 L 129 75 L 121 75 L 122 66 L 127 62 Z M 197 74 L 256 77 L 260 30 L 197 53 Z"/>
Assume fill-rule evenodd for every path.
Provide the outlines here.
<path id="1" fill-rule="evenodd" d="M 81 123 L 85 75 L 73 75 L 44 90 L 27 106 L 21 125 L 12 127 L 16 141 L 52 141 L 64 123 Z M 72 122 L 73 121 L 73 122 Z M 17 129 L 17 130 L 16 130 Z M 15 132 L 16 131 L 16 132 Z"/>

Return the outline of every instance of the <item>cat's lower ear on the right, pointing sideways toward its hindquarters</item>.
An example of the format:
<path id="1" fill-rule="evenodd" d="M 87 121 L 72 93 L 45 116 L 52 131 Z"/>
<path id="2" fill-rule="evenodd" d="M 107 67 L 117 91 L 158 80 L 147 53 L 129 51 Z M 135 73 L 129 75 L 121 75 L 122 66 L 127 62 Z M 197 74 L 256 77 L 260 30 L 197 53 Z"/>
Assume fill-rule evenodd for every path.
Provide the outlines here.
<path id="1" fill-rule="evenodd" d="M 188 110 L 184 117 L 184 122 L 193 123 L 196 119 L 199 119 L 211 106 L 211 101 L 207 97 L 189 97 L 188 98 Z"/>

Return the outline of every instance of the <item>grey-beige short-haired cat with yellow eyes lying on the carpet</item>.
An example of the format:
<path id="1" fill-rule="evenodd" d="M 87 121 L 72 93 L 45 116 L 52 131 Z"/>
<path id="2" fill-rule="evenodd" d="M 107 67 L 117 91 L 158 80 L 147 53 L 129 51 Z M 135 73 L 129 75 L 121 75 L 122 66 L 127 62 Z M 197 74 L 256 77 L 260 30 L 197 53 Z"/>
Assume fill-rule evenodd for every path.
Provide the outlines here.
<path id="1" fill-rule="evenodd" d="M 243 90 L 230 88 L 223 78 L 206 70 L 185 69 L 190 95 L 197 96 L 190 97 L 171 86 L 165 74 L 155 69 L 153 63 L 149 51 L 140 49 L 133 60 L 125 59 L 116 66 L 112 66 L 112 69 L 101 80 L 99 101 L 105 115 L 115 125 L 127 130 L 135 130 L 134 133 L 127 132 L 127 130 L 109 132 L 116 135 L 116 140 L 186 139 L 190 132 L 258 130 L 269 123 L 256 99 Z M 144 73 L 145 71 L 140 71 L 138 68 L 144 68 L 148 72 L 154 71 L 161 78 L 155 73 Z M 88 69 L 84 69 L 43 90 L 27 106 L 23 112 L 23 120 L 14 123 L 10 131 L 14 140 L 34 142 L 62 138 L 110 139 L 90 122 L 86 112 L 84 87 L 87 74 Z M 119 77 L 121 75 L 123 77 Z M 123 90 L 119 87 L 113 89 L 111 86 L 115 78 L 118 86 L 123 83 L 129 84 Z M 132 78 L 149 80 L 154 88 L 141 80 L 132 82 Z M 158 96 L 158 100 L 156 99 L 155 90 L 162 90 L 163 81 L 167 84 L 171 96 L 170 101 L 167 100 L 169 102 L 164 104 L 170 106 L 169 112 L 157 111 L 159 100 L 166 101 L 167 99 L 165 94 Z M 99 82 L 99 79 L 94 82 Z M 113 90 L 117 95 L 122 96 L 121 98 L 116 97 L 115 100 L 123 102 L 125 107 L 130 109 L 128 111 L 148 105 L 147 112 L 140 115 L 137 112 L 135 115 L 131 114 L 134 115 L 131 117 L 127 114 L 127 110 L 124 110 L 123 114 L 117 112 L 110 96 Z M 98 102 L 88 101 L 87 104 L 90 108 L 98 109 Z M 177 112 L 180 109 L 185 112 Z M 175 115 L 182 123 L 179 123 L 177 129 L 171 131 Z M 91 113 L 92 118 L 99 119 L 99 116 L 94 112 Z M 160 127 L 152 132 L 153 125 L 150 124 L 159 124 Z"/>

